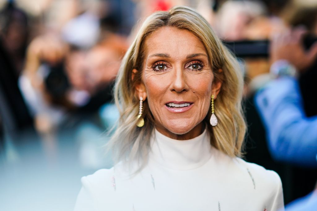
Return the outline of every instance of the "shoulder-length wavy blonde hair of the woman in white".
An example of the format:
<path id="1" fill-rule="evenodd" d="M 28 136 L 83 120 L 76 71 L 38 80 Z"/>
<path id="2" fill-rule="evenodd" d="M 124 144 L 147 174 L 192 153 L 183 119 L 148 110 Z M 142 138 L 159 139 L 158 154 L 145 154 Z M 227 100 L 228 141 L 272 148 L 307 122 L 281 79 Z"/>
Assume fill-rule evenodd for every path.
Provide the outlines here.
<path id="1" fill-rule="evenodd" d="M 214 101 L 218 125 L 211 127 L 208 124 L 211 109 L 204 119 L 206 125 L 209 125 L 210 144 L 231 157 L 241 156 L 246 131 L 241 106 L 242 71 L 236 59 L 223 46 L 209 23 L 200 14 L 191 8 L 176 6 L 168 12 L 160 11 L 149 16 L 123 58 L 114 88 L 114 99 L 120 111 L 120 119 L 108 145 L 113 149 L 115 163 L 136 160 L 142 168 L 147 162 L 154 119 L 147 102 L 144 101 L 142 117 L 145 124 L 141 128 L 137 127 L 139 98 L 135 86 L 141 81 L 145 56 L 143 45 L 146 37 L 164 26 L 189 30 L 204 44 L 215 76 L 214 80 L 222 81 L 221 90 Z M 133 69 L 137 69 L 138 72 L 132 80 Z M 220 69 L 222 71 L 219 71 Z"/>

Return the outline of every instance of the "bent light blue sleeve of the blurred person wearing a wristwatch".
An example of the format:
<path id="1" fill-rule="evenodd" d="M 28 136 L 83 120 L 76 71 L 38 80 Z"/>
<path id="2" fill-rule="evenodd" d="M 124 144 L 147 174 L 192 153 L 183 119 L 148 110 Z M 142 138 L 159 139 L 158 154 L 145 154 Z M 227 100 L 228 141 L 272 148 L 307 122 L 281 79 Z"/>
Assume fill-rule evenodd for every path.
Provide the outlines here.
<path id="1" fill-rule="evenodd" d="M 292 77 L 276 79 L 260 90 L 255 100 L 272 156 L 316 167 L 317 116 L 306 117 L 297 81 Z"/>

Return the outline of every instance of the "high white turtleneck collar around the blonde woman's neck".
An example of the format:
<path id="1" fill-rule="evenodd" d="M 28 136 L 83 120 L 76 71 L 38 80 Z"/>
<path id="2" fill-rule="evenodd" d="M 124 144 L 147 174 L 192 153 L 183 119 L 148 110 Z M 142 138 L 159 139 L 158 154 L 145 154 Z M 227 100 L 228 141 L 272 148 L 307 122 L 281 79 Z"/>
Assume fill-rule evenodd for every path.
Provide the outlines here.
<path id="1" fill-rule="evenodd" d="M 150 159 L 169 169 L 195 169 L 206 163 L 210 156 L 211 145 L 207 129 L 189 140 L 172 139 L 156 129 L 152 133 Z"/>

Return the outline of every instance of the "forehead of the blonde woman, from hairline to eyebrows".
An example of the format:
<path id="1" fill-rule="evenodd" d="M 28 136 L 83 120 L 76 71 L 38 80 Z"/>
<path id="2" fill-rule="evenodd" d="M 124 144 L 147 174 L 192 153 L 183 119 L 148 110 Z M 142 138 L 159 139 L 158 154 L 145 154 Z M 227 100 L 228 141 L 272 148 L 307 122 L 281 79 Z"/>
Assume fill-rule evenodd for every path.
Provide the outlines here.
<path id="1" fill-rule="evenodd" d="M 149 35 L 145 40 L 147 59 L 150 54 L 167 53 L 172 56 L 206 53 L 204 44 L 186 29 L 176 27 L 161 27 Z"/>

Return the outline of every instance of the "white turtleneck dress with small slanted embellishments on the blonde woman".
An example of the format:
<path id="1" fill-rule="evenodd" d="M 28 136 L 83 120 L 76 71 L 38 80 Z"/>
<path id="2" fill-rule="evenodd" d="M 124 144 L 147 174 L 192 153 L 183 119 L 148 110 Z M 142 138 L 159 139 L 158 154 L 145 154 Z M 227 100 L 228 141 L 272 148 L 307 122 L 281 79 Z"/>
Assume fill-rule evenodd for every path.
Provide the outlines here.
<path id="1" fill-rule="evenodd" d="M 215 149 L 206 130 L 182 141 L 153 134 L 144 169 L 130 176 L 121 163 L 82 177 L 74 210 L 284 210 L 280 177 Z"/>

